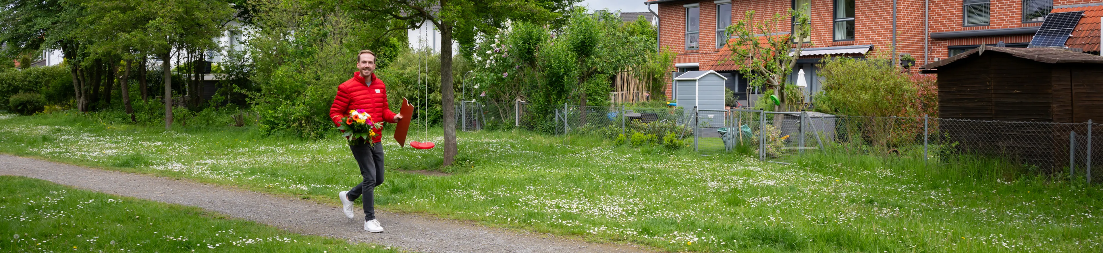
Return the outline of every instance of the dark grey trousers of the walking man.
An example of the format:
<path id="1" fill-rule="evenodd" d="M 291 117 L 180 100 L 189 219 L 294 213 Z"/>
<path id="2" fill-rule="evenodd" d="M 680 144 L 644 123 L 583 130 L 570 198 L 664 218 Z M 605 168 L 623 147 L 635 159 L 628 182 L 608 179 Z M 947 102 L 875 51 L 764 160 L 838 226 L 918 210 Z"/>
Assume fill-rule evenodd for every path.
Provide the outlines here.
<path id="1" fill-rule="evenodd" d="M 374 145 L 374 148 L 368 148 Z M 383 143 L 350 145 L 364 181 L 349 190 L 349 200 L 364 196 L 364 221 L 375 220 L 375 187 L 383 185 Z"/>

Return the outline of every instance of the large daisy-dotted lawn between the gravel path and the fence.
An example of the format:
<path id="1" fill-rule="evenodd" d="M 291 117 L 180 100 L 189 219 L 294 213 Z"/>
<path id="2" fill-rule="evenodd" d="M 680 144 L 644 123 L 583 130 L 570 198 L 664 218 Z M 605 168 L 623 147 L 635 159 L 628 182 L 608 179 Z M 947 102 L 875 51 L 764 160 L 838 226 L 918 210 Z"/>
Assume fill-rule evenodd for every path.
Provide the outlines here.
<path id="1" fill-rule="evenodd" d="M 54 114 L 0 116 L 0 151 L 189 178 L 336 204 L 360 180 L 335 137 L 146 128 Z M 335 136 L 335 135 L 334 135 Z M 442 146 L 440 129 L 408 140 Z M 377 205 L 485 224 L 700 252 L 1100 252 L 1103 191 L 984 160 L 810 156 L 762 164 L 527 131 L 459 134 L 441 149 L 385 140 Z M 399 170 L 443 170 L 425 176 Z"/>

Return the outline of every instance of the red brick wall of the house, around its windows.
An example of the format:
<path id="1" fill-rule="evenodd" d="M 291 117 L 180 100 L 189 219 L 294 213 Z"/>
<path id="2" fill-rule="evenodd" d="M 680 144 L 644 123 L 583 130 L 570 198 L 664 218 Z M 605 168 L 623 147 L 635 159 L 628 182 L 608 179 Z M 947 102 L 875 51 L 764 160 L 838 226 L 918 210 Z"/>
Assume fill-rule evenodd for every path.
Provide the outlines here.
<path id="1" fill-rule="evenodd" d="M 929 0 L 930 32 L 950 32 L 962 30 L 1004 29 L 1037 27 L 1040 22 L 1022 22 L 1022 0 L 990 0 L 990 21 L 988 25 L 963 28 L 962 0 Z M 1053 6 L 1069 6 L 1103 2 L 1103 0 L 1053 0 Z M 685 50 L 685 8 L 683 4 L 698 3 L 700 6 L 700 50 Z M 754 10 L 754 21 L 761 22 L 774 13 L 786 11 L 793 4 L 792 0 L 732 0 L 731 18 L 742 20 L 748 10 Z M 897 0 L 897 52 L 912 55 L 917 65 L 945 59 L 947 46 L 1030 42 L 1031 35 L 1007 35 L 987 38 L 960 38 L 928 40 L 923 34 L 924 0 Z M 835 45 L 872 44 L 874 51 L 888 53 L 892 44 L 892 0 L 855 0 L 855 40 L 835 42 L 834 0 L 812 0 L 812 48 Z M 716 49 L 716 4 L 711 0 L 686 0 L 658 4 L 661 38 L 660 45 L 668 48 L 678 56 L 675 63 L 700 63 L 700 70 L 708 70 L 710 61 L 719 52 Z M 777 31 L 790 31 L 789 20 L 779 24 Z M 924 41 L 929 44 L 928 55 L 923 55 Z M 924 62 L 924 56 L 929 61 Z M 917 67 L 918 68 L 918 67 Z M 671 68 L 674 70 L 673 66 Z M 670 96 L 670 88 L 667 88 Z"/>

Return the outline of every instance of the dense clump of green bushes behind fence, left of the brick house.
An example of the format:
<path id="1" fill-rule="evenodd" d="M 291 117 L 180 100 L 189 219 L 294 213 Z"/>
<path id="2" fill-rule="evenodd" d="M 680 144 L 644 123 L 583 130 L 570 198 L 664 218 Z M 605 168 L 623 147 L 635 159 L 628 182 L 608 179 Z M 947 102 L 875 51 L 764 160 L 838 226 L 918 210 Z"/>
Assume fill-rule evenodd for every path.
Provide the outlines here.
<path id="1" fill-rule="evenodd" d="M 655 28 L 645 20 L 621 22 L 608 11 L 589 13 L 576 9 L 565 17 L 566 27 L 515 22 L 507 32 L 486 34 L 472 56 L 479 91 L 497 108 L 525 98 L 529 127 L 550 131 L 555 108 L 564 103 L 607 106 L 610 80 L 621 72 L 650 78 L 650 87 L 662 93 L 663 76 L 673 53 L 656 53 Z M 508 112 L 499 112 L 505 118 Z M 585 120 L 583 116 L 583 120 Z M 543 124 L 543 125 L 540 125 Z"/>

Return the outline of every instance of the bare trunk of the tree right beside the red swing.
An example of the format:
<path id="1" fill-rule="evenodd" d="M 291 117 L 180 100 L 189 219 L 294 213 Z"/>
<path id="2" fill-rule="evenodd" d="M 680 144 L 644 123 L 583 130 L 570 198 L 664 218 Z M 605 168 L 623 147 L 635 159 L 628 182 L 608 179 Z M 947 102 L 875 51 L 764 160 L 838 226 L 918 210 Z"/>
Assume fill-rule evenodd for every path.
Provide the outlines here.
<path id="1" fill-rule="evenodd" d="M 443 7 L 446 0 L 441 0 Z M 452 27 L 440 22 L 440 102 L 445 124 L 445 164 L 451 166 L 459 154 L 456 145 L 456 91 L 452 91 Z"/>

